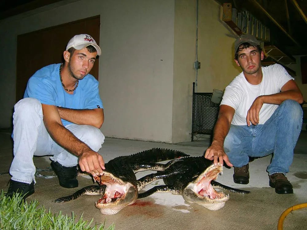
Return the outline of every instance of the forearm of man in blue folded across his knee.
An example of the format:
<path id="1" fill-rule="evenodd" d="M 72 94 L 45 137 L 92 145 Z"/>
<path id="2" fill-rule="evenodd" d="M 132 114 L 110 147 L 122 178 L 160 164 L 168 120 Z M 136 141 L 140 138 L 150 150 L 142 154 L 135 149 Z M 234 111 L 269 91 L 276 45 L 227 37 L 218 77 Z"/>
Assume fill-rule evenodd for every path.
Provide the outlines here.
<path id="1" fill-rule="evenodd" d="M 92 125 L 100 128 L 103 124 L 103 109 L 68 109 L 57 107 L 60 117 L 77 125 Z"/>

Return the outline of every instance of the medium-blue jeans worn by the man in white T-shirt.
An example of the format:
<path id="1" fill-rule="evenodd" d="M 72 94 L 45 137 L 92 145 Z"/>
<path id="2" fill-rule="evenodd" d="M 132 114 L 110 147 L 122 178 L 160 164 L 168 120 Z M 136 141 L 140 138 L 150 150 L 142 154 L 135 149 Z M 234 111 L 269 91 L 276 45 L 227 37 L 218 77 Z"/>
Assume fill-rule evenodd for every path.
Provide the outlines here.
<path id="1" fill-rule="evenodd" d="M 234 167 L 242 167 L 250 157 L 273 153 L 269 175 L 286 174 L 293 160 L 293 149 L 301 132 L 303 111 L 293 100 L 282 102 L 263 125 L 231 125 L 224 151 Z"/>

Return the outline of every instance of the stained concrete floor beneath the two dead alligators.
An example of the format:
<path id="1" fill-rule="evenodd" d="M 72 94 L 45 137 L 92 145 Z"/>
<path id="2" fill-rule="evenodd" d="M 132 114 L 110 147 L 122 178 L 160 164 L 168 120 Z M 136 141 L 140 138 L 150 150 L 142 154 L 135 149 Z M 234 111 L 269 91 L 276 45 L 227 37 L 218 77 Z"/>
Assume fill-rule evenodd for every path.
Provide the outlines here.
<path id="1" fill-rule="evenodd" d="M 238 185 L 232 180 L 233 169 L 224 167 L 223 175 L 218 182 L 251 191 L 250 194 L 232 194 L 222 209 L 209 211 L 197 204 L 186 203 L 180 195 L 170 193 L 156 193 L 135 204 L 129 205 L 119 213 L 112 216 L 104 216 L 95 208 L 97 196 L 84 195 L 67 203 L 54 203 L 56 198 L 70 195 L 76 190 L 92 185 L 90 177 L 80 177 L 79 187 L 65 189 L 59 186 L 56 177 L 36 177 L 35 193 L 27 198 L 27 201 L 36 199 L 45 209 L 50 207 L 53 213 L 62 211 L 62 214 L 71 216 L 72 211 L 80 217 L 83 213 L 85 220 L 94 218 L 94 222 L 103 223 L 106 226 L 115 223 L 115 229 L 277 229 L 280 215 L 287 208 L 307 202 L 307 132 L 302 131 L 297 146 L 293 164 L 287 178 L 293 185 L 294 194 L 276 194 L 269 187 L 266 167 L 270 163 L 270 156 L 256 159 L 250 163 L 250 183 Z M 12 141 L 9 132 L 0 132 L 0 186 L 5 192 L 10 179 L 9 171 L 12 161 Z M 169 148 L 184 151 L 191 156 L 203 155 L 208 148 L 209 141 L 204 139 L 196 142 L 165 144 L 145 142 L 137 140 L 122 140 L 106 138 L 103 148 L 99 153 L 105 162 L 119 155 L 130 155 L 138 151 L 150 148 Z M 34 157 L 36 167 L 48 169 L 49 157 Z M 2 174 L 4 172 L 4 174 Z M 141 177 L 148 172 L 140 172 Z M 39 172 L 39 174 L 54 176 L 53 171 Z M 154 185 L 162 184 L 161 180 Z M 152 185 L 145 187 L 147 190 Z M 289 213 L 284 221 L 284 229 L 307 229 L 307 209 L 295 210 Z"/>

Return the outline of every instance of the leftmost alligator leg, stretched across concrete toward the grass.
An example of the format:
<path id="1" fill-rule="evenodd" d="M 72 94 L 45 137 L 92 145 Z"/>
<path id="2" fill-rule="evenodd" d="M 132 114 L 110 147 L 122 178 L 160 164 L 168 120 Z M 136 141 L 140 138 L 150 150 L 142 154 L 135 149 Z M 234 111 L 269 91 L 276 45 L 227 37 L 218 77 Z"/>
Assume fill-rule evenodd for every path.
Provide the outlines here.
<path id="1" fill-rule="evenodd" d="M 54 202 L 56 203 L 62 203 L 67 201 L 72 201 L 74 199 L 77 199 L 78 197 L 82 195 L 103 195 L 106 190 L 106 185 L 90 185 L 86 186 L 78 191 L 76 191 L 74 194 L 66 196 L 66 197 L 60 197 L 56 199 Z"/>

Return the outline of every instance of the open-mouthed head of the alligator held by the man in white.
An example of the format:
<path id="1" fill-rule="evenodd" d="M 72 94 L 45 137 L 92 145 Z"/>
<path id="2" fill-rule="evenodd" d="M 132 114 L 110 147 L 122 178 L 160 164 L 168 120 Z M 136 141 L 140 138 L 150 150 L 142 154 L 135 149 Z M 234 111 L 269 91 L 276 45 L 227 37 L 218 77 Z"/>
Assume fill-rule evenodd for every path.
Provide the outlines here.
<path id="1" fill-rule="evenodd" d="M 197 203 L 209 210 L 223 208 L 225 202 L 229 200 L 229 195 L 223 192 L 218 193 L 211 185 L 212 180 L 216 180 L 219 174 L 223 173 L 223 167 L 212 164 L 202 174 L 200 174 L 183 191 L 183 198 L 189 203 Z"/>

